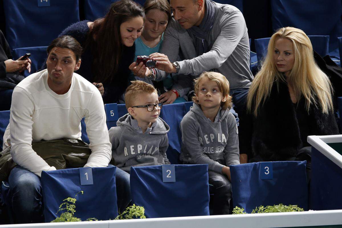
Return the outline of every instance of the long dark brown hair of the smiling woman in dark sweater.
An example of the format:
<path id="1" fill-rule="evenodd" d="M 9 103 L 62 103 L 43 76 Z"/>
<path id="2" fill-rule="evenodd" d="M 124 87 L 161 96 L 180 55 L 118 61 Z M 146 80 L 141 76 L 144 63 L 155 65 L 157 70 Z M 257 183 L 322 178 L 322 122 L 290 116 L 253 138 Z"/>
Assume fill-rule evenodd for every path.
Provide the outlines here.
<path id="1" fill-rule="evenodd" d="M 143 7 L 132 0 L 120 0 L 111 4 L 104 18 L 94 21 L 89 30 L 86 46 L 93 54 L 93 71 L 96 82 L 111 80 L 118 71 L 123 43 L 120 25 L 134 17 L 145 18 Z"/>

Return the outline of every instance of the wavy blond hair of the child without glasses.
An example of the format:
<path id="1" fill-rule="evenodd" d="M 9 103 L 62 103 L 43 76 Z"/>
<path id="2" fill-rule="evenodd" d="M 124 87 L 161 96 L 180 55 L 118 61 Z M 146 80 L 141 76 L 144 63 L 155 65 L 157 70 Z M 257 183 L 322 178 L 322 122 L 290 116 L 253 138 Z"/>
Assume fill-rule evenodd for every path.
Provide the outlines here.
<path id="1" fill-rule="evenodd" d="M 195 79 L 195 94 L 198 94 L 199 83 L 203 78 L 209 79 L 209 81 L 216 82 L 222 92 L 223 97 L 227 96 L 225 102 L 221 102 L 222 109 L 231 109 L 233 107 L 232 96 L 229 95 L 229 82 L 225 76 L 218 72 L 203 72 L 197 79 Z M 198 99 L 195 96 L 192 97 L 196 104 L 199 104 Z"/>

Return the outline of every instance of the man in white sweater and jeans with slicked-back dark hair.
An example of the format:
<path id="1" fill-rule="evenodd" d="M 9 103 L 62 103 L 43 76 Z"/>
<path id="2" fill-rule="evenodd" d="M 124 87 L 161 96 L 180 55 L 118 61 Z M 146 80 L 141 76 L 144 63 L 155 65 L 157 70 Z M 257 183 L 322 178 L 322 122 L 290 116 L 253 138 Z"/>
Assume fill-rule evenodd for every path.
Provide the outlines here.
<path id="1" fill-rule="evenodd" d="M 81 64 L 81 45 L 70 36 L 52 41 L 47 49 L 47 68 L 21 81 L 13 91 L 10 124 L 4 149 L 12 146 L 10 173 L 12 206 L 19 223 L 42 219 L 42 171 L 56 170 L 32 149 L 32 142 L 60 138 L 79 139 L 84 117 L 91 155 L 84 167 L 105 167 L 111 144 L 100 92 L 74 73 Z"/>

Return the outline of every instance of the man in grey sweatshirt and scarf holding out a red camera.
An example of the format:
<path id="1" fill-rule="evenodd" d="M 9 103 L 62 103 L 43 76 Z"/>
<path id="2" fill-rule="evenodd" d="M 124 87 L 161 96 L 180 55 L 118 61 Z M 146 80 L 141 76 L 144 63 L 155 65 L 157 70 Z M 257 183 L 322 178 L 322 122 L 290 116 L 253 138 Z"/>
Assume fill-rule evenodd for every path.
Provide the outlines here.
<path id="1" fill-rule="evenodd" d="M 152 71 L 156 78 L 173 73 L 178 74 L 178 81 L 159 101 L 173 103 L 177 96 L 187 95 L 193 89 L 193 79 L 202 72 L 220 72 L 231 85 L 239 128 L 245 131 L 248 128 L 244 125 L 246 100 L 253 75 L 249 68 L 250 48 L 244 16 L 233 5 L 210 0 L 170 0 L 170 5 L 173 17 L 164 33 L 162 54 L 154 53 L 150 57 L 158 61 L 158 69 Z M 146 71 L 149 75 L 150 71 Z M 145 71 L 136 67 L 133 72 L 141 76 Z"/>

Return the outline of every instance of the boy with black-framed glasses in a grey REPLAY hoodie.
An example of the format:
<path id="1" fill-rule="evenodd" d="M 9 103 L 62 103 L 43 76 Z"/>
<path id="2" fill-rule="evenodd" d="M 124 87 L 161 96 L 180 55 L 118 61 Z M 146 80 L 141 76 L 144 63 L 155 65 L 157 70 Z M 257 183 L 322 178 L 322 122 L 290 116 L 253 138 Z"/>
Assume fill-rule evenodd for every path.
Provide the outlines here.
<path id="1" fill-rule="evenodd" d="M 157 90 L 143 81 L 132 81 L 127 88 L 128 113 L 109 129 L 111 164 L 130 172 L 131 166 L 170 164 L 166 157 L 170 127 L 159 118 L 163 106 Z"/>

